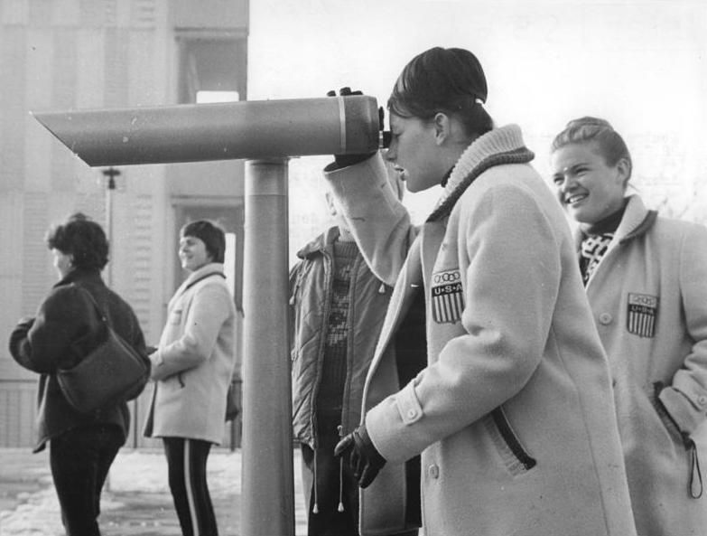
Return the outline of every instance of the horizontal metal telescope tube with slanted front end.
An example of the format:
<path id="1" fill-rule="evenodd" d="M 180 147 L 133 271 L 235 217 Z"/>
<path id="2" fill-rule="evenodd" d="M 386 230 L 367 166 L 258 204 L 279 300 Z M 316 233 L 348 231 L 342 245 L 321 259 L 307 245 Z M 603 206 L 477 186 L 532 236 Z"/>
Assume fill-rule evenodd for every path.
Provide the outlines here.
<path id="1" fill-rule="evenodd" d="M 90 166 L 371 153 L 374 97 L 32 112 Z"/>

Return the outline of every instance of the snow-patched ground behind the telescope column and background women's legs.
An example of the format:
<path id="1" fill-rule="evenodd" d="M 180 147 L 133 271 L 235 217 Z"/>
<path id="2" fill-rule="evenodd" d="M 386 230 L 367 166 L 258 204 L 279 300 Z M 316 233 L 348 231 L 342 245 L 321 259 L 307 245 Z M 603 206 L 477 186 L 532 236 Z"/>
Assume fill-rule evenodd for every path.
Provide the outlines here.
<path id="1" fill-rule="evenodd" d="M 295 475 L 299 453 L 295 451 Z M 240 529 L 240 452 L 209 456 L 209 489 L 221 536 Z M 296 534 L 306 534 L 302 490 L 295 477 Z M 111 469 L 101 500 L 104 536 L 181 536 L 166 484 L 162 452 L 124 449 Z M 0 449 L 0 535 L 60 536 L 59 504 L 45 452 Z"/>

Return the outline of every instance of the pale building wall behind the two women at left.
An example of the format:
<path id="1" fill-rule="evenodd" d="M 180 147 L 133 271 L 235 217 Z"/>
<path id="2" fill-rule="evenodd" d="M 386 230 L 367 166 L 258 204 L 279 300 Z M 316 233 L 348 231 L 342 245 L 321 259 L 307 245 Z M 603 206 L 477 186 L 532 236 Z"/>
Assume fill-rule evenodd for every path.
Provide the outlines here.
<path id="1" fill-rule="evenodd" d="M 242 163 L 123 167 L 108 193 L 103 170 L 72 155 L 31 112 L 175 104 L 178 34 L 247 36 L 247 10 L 247 0 L 0 0 L 5 341 L 56 282 L 44 233 L 80 211 L 109 231 L 104 278 L 135 308 L 148 343 L 156 343 L 182 277 L 172 260 L 180 223 L 175 203 L 217 199 L 236 210 Z M 35 381 L 0 344 L 0 447 L 32 444 Z M 138 419 L 147 396 L 138 401 Z M 144 444 L 138 439 L 132 444 Z"/>

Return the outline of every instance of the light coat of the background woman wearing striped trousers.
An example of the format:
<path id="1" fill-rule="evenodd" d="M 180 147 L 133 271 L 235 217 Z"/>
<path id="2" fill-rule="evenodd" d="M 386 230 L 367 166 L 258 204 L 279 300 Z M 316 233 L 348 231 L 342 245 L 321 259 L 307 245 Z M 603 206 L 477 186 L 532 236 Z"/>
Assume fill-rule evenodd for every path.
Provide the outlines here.
<path id="1" fill-rule="evenodd" d="M 199 268 L 170 300 L 158 350 L 150 355 L 154 391 L 146 437 L 221 442 L 236 364 L 236 306 L 222 275 L 219 263 Z"/>

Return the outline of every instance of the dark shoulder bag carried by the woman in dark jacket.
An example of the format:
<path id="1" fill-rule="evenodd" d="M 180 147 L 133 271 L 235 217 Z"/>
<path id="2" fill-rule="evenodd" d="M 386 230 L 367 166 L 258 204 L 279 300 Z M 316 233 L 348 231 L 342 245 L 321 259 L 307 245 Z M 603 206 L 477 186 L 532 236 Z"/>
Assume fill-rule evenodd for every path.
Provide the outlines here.
<path id="1" fill-rule="evenodd" d="M 84 291 L 106 327 L 107 338 L 76 366 L 59 369 L 56 377 L 71 406 L 89 413 L 138 396 L 149 380 L 150 361 L 116 334 L 94 297 Z"/>

